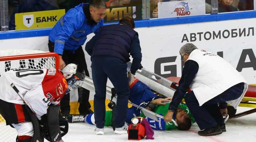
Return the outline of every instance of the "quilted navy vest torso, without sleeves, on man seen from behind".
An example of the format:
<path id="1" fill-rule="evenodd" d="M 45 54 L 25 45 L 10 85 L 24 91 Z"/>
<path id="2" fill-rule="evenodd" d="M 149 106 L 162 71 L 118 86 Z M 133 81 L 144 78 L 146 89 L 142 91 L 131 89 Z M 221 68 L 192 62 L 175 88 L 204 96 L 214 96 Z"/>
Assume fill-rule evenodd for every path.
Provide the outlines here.
<path id="1" fill-rule="evenodd" d="M 135 34 L 138 33 L 126 23 L 101 27 L 91 57 L 113 56 L 124 62 L 130 61 L 130 44 Z"/>

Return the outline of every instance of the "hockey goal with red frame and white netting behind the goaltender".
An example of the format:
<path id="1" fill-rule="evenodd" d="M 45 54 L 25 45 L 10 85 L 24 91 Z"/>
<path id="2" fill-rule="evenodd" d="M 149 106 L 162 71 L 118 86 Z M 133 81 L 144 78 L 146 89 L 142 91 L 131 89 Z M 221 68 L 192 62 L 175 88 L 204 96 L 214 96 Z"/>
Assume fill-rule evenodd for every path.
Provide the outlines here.
<path id="1" fill-rule="evenodd" d="M 39 50 L 0 50 L 0 75 L 13 69 L 59 69 L 59 55 Z M 17 131 L 0 114 L 0 142 L 14 142 Z"/>

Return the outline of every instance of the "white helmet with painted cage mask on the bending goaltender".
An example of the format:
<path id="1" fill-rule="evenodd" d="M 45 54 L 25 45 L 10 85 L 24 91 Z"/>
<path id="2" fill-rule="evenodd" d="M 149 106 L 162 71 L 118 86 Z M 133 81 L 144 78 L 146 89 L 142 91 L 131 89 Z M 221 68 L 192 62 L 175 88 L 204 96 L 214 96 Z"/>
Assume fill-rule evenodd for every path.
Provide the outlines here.
<path id="1" fill-rule="evenodd" d="M 77 68 L 76 64 L 68 64 L 62 69 L 63 76 L 68 83 L 66 94 L 76 88 L 80 88 L 84 82 L 85 75 L 76 71 Z"/>

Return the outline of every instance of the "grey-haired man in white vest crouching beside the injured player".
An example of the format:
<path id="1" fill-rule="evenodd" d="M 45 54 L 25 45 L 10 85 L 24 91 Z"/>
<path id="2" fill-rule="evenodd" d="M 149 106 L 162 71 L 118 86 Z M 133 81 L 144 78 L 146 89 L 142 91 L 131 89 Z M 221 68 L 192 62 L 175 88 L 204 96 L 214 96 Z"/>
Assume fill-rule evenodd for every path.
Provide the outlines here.
<path id="1" fill-rule="evenodd" d="M 220 56 L 198 49 L 187 43 L 180 49 L 185 62 L 179 86 L 174 93 L 169 110 L 164 117 L 171 122 L 178 104 L 185 102 L 201 131 L 200 136 L 219 135 L 226 131 L 223 116 L 217 103 L 226 109 L 226 103 L 235 109 L 242 100 L 248 84 L 244 77 Z M 191 91 L 187 94 L 188 88 Z"/>

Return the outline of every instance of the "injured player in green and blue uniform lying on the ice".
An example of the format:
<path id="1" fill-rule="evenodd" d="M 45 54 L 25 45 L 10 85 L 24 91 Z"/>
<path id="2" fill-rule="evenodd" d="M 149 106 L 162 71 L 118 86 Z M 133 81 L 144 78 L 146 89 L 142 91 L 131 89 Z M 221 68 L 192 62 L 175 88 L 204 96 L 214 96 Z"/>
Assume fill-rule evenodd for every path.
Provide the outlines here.
<path id="1" fill-rule="evenodd" d="M 130 96 L 129 100 L 140 107 L 149 108 L 151 111 L 165 116 L 168 111 L 171 97 L 164 98 L 154 94 L 146 84 L 139 81 L 137 78 L 134 78 L 133 82 L 130 84 Z M 109 104 L 111 106 L 111 104 Z M 143 117 L 149 122 L 152 129 L 155 130 L 189 130 L 191 125 L 195 122 L 193 116 L 187 108 L 187 105 L 180 103 L 174 121 L 164 122 L 164 119 L 159 118 L 159 121 L 147 118 L 140 109 L 132 106 L 128 108 L 126 115 L 126 122 L 131 123 L 131 119 L 134 117 Z M 118 116 L 117 116 L 118 117 Z M 112 111 L 106 111 L 105 115 L 105 126 L 112 126 Z M 94 114 L 86 115 L 84 121 L 93 124 L 94 123 Z"/>

